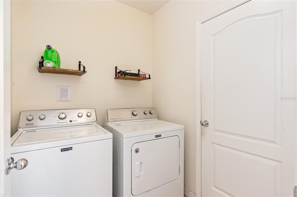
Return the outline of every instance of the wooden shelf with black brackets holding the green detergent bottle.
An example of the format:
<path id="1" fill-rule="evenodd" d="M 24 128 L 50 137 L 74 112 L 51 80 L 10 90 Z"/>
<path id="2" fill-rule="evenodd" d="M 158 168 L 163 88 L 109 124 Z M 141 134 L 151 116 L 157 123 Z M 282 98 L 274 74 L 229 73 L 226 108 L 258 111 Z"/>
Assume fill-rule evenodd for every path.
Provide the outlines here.
<path id="1" fill-rule="evenodd" d="M 39 60 L 39 66 L 37 66 L 37 70 L 40 73 L 77 75 L 77 76 L 81 76 L 87 73 L 86 67 L 83 64 L 81 64 L 80 61 L 78 62 L 78 70 L 43 67 L 43 61 L 44 61 L 43 56 L 41 56 L 41 59 Z M 83 70 L 80 70 L 80 66 L 83 66 Z"/>

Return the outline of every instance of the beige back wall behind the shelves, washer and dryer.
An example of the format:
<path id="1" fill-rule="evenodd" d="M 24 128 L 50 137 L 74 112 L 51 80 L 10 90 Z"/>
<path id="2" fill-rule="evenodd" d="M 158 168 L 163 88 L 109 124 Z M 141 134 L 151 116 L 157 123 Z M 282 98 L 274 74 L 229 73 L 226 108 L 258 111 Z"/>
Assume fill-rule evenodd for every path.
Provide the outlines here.
<path id="1" fill-rule="evenodd" d="M 86 66 L 83 76 L 39 73 L 46 45 L 61 68 Z M 114 69 L 152 71 L 152 16 L 117 1 L 11 1 L 12 134 L 22 110 L 151 106 L 152 80 L 115 80 Z M 71 102 L 56 102 L 56 85 Z"/>

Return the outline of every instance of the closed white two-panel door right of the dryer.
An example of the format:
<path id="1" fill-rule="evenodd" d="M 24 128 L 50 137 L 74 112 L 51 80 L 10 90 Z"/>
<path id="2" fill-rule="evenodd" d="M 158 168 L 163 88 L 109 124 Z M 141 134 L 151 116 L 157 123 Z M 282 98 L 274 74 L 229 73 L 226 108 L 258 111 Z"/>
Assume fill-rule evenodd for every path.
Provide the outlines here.
<path id="1" fill-rule="evenodd" d="M 296 1 L 201 24 L 202 196 L 293 196 Z"/>

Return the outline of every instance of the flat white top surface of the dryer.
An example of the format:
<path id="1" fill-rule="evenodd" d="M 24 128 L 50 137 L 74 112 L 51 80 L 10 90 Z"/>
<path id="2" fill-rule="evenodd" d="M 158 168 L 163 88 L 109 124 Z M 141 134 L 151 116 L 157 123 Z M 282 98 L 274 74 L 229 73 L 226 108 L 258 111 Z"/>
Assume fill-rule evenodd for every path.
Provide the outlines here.
<path id="1" fill-rule="evenodd" d="M 121 136 L 122 138 L 130 138 L 141 135 L 149 135 L 153 133 L 162 133 L 184 129 L 184 125 L 178 125 L 162 120 L 148 120 L 141 122 L 128 122 L 119 124 L 106 124 L 105 126 Z"/>

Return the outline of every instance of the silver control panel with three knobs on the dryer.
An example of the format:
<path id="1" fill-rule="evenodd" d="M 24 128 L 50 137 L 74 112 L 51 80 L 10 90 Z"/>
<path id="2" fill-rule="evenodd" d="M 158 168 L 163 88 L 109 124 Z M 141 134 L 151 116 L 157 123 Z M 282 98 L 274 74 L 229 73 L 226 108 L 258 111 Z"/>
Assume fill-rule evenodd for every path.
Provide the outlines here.
<path id="1" fill-rule="evenodd" d="M 158 119 L 157 110 L 154 107 L 108 109 L 106 115 L 107 123 Z"/>

